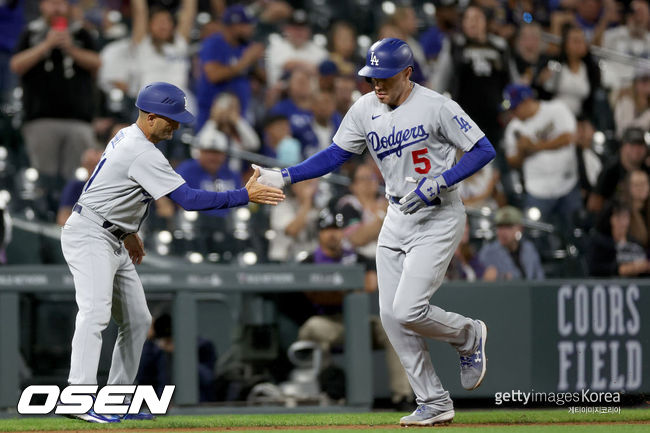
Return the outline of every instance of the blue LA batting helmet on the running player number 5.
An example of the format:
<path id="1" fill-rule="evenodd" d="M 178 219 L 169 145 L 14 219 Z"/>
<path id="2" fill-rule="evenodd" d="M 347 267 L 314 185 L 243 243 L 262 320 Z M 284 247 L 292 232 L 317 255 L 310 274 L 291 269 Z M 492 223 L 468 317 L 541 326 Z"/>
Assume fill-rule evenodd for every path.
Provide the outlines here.
<path id="1" fill-rule="evenodd" d="M 368 48 L 366 66 L 361 68 L 359 75 L 390 78 L 413 65 L 413 52 L 406 42 L 397 38 L 385 38 Z"/>

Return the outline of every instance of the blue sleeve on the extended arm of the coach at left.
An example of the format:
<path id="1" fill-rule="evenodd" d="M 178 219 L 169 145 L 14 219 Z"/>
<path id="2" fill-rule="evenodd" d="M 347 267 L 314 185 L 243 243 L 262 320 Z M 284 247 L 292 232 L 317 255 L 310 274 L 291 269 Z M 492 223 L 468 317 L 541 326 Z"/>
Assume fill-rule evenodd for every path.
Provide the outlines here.
<path id="1" fill-rule="evenodd" d="M 185 210 L 209 211 L 241 206 L 248 203 L 248 191 L 246 188 L 224 192 L 210 192 L 190 188 L 184 183 L 167 194 L 167 196 Z"/>

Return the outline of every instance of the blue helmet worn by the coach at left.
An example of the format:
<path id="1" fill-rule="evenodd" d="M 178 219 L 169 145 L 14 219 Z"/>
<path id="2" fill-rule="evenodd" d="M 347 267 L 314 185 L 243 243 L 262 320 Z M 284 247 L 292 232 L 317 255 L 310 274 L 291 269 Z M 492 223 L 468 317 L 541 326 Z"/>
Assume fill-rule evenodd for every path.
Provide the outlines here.
<path id="1" fill-rule="evenodd" d="M 181 123 L 194 120 L 194 115 L 187 111 L 185 92 L 169 83 L 159 81 L 144 86 L 138 93 L 135 106 L 147 113 L 169 117 Z"/>

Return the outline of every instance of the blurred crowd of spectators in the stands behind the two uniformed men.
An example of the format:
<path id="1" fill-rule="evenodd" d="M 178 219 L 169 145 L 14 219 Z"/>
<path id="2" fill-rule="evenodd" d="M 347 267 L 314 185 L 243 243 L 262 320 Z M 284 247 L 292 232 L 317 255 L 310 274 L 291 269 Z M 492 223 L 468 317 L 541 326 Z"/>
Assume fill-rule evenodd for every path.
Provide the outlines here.
<path id="1" fill-rule="evenodd" d="M 384 37 L 407 41 L 413 80 L 458 101 L 497 150 L 461 185 L 449 280 L 650 274 L 647 0 L 0 0 L 0 262 L 62 263 L 58 247 L 12 254 L 15 228 L 65 223 L 144 84 L 181 87 L 196 114 L 159 145 L 187 183 L 239 188 L 252 162 L 331 143 L 372 90 L 356 72 Z M 273 208 L 214 217 L 162 198 L 141 236 L 149 260 L 363 263 L 373 291 L 386 207 L 365 154 Z M 340 298 L 304 301 L 287 313 L 302 334 L 314 314 L 340 323 Z"/>

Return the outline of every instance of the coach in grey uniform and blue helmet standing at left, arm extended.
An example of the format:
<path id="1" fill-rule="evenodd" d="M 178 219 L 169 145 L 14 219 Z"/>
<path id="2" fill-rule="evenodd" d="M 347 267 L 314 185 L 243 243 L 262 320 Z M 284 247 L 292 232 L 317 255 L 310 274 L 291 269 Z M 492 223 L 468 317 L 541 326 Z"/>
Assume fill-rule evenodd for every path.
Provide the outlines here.
<path id="1" fill-rule="evenodd" d="M 168 196 L 186 210 L 213 210 L 249 201 L 277 204 L 284 195 L 257 182 L 245 188 L 208 192 L 189 188 L 154 146 L 171 138 L 180 122 L 194 116 L 186 109 L 185 94 L 168 83 L 152 83 L 139 93 L 136 123 L 110 141 L 61 234 L 63 255 L 70 267 L 79 312 L 72 339 L 68 382 L 94 385 L 102 346 L 101 332 L 111 318 L 119 332 L 108 384 L 132 384 L 151 324 L 142 283 L 135 270 L 145 255 L 138 229 L 152 200 Z M 150 414 L 75 415 L 89 422 L 151 419 Z"/>

